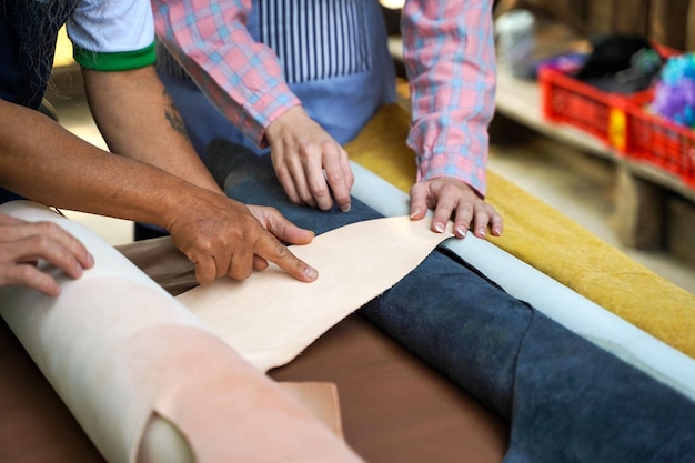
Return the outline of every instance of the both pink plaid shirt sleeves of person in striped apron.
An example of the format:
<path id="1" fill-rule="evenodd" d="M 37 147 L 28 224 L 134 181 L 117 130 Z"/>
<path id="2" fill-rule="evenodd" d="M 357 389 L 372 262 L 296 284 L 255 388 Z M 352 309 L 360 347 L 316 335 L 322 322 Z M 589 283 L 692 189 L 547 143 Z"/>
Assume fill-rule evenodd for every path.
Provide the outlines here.
<path id="1" fill-rule="evenodd" d="M 483 195 L 496 76 L 491 3 L 407 0 L 402 22 L 417 180 L 453 177 Z M 152 0 L 161 40 L 225 117 L 264 145 L 268 125 L 301 102 L 275 53 L 248 33 L 250 8 L 250 0 Z"/>

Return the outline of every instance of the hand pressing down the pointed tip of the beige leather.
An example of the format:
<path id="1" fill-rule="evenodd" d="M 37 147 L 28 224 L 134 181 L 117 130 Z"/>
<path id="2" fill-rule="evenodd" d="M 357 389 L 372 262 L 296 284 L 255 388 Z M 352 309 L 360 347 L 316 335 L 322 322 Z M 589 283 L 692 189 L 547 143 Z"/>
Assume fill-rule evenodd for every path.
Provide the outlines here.
<path id="1" fill-rule="evenodd" d="M 457 238 L 465 236 L 469 229 L 477 238 L 485 238 L 488 228 L 493 235 L 502 234 L 502 217 L 495 208 L 461 180 L 441 177 L 415 183 L 411 188 L 411 219 L 424 218 L 427 209 L 434 209 L 432 231 L 443 232 L 453 217 Z"/>

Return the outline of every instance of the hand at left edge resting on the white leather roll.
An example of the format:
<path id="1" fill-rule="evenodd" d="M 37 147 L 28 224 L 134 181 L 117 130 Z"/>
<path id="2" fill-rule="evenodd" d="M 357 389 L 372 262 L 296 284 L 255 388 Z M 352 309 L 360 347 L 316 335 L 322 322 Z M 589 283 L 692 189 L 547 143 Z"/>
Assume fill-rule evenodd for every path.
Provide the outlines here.
<path id="1" fill-rule="evenodd" d="M 53 222 L 27 222 L 0 212 L 0 286 L 27 286 L 50 296 L 60 286 L 37 264 L 40 259 L 78 279 L 94 264 L 87 249 Z"/>

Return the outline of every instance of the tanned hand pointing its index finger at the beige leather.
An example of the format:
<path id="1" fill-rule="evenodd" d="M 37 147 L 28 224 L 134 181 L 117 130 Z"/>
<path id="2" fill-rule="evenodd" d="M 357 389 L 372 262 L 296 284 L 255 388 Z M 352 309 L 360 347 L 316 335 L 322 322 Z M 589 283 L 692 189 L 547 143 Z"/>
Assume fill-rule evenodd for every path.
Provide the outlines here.
<path id="1" fill-rule="evenodd" d="M 195 264 L 199 283 L 224 275 L 244 280 L 268 262 L 300 281 L 316 280 L 318 272 L 279 241 L 308 244 L 312 231 L 292 224 L 273 208 L 246 207 L 220 193 L 207 193 L 211 201 L 183 208 L 169 227 L 174 244 Z"/>

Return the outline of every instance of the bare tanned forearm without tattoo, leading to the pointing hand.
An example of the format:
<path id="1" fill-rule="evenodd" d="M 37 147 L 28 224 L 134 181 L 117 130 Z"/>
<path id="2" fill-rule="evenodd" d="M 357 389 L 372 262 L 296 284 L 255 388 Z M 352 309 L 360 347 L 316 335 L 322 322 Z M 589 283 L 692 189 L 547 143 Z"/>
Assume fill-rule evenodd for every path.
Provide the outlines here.
<path id="1" fill-rule="evenodd" d="M 174 211 L 209 194 L 104 152 L 37 111 L 0 101 L 0 184 L 28 199 L 167 228 Z"/>

